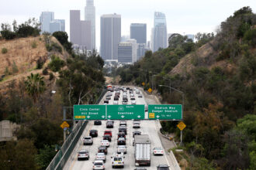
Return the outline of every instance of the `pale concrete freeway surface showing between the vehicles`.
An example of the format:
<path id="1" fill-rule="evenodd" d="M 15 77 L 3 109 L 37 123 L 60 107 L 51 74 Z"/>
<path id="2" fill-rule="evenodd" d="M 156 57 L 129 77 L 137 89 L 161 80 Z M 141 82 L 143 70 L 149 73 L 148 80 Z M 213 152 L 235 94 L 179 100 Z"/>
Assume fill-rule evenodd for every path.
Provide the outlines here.
<path id="1" fill-rule="evenodd" d="M 115 91 L 112 93 L 111 100 L 109 100 L 109 104 L 113 104 L 113 97 L 114 97 Z M 140 92 L 141 93 L 141 92 Z M 128 104 L 130 104 L 130 93 L 128 90 Z M 143 93 L 141 93 L 143 94 Z M 123 92 L 121 91 L 120 97 L 119 97 L 119 104 L 122 104 L 123 99 Z M 145 104 L 146 100 L 143 94 L 143 97 L 138 97 L 137 93 L 134 93 L 134 96 L 137 100 L 137 104 Z M 100 104 L 103 104 L 103 101 L 105 100 L 106 96 L 102 98 L 102 101 Z M 148 134 L 150 141 L 151 141 L 151 148 L 154 147 L 161 147 L 161 141 L 160 138 L 157 135 L 157 129 L 159 129 L 159 122 L 157 121 L 141 121 L 140 129 L 133 129 L 133 121 L 126 121 L 127 122 L 127 135 L 126 135 L 126 149 L 127 153 L 124 158 L 124 168 L 123 169 L 134 169 L 135 167 L 135 159 L 134 159 L 134 147 L 133 147 L 133 131 L 141 131 L 142 134 Z M 85 128 L 85 131 L 83 132 L 81 136 L 81 140 L 78 141 L 78 144 L 74 148 L 74 151 L 71 154 L 71 157 L 68 159 L 67 163 L 64 166 L 65 170 L 71 170 L 71 169 L 92 169 L 92 162 L 95 161 L 95 155 L 98 151 L 98 148 L 100 146 L 100 141 L 102 141 L 103 132 L 107 129 L 106 128 L 106 121 L 102 121 L 102 125 L 94 125 L 94 121 L 90 121 Z M 112 169 L 112 161 L 111 156 L 116 153 L 117 150 L 117 134 L 118 134 L 118 128 L 119 128 L 119 121 L 114 121 L 114 128 L 110 128 L 112 131 L 112 141 L 110 142 L 110 146 L 108 148 L 108 155 L 106 155 L 106 169 Z M 83 145 L 82 143 L 82 137 L 88 136 L 89 131 L 95 129 L 99 131 L 99 136 L 97 138 L 93 138 L 93 145 Z M 78 161 L 78 151 L 81 149 L 85 149 L 89 151 L 90 158 L 89 160 L 85 161 Z M 151 151 L 152 152 L 152 151 Z M 165 152 L 165 151 L 164 151 Z M 151 153 L 151 165 L 150 167 L 146 167 L 148 170 L 155 170 L 157 169 L 157 165 L 159 164 L 165 164 L 169 165 L 167 153 L 164 153 L 163 156 L 154 156 Z"/>

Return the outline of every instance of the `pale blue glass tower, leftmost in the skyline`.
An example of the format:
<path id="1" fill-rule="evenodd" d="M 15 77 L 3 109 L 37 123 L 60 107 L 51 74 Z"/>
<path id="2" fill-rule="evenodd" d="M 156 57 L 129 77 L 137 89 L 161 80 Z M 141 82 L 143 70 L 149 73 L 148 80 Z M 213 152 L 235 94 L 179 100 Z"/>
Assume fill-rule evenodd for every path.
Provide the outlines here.
<path id="1" fill-rule="evenodd" d="M 41 32 L 50 32 L 50 22 L 54 21 L 54 12 L 42 12 L 40 15 Z"/>

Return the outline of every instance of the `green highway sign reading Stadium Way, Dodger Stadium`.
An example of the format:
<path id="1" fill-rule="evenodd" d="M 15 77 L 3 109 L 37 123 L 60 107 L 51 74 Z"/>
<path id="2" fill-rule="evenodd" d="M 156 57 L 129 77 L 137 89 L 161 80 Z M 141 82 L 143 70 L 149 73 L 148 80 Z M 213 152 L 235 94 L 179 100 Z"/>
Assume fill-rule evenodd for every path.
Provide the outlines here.
<path id="1" fill-rule="evenodd" d="M 182 104 L 148 105 L 148 119 L 182 120 Z"/>

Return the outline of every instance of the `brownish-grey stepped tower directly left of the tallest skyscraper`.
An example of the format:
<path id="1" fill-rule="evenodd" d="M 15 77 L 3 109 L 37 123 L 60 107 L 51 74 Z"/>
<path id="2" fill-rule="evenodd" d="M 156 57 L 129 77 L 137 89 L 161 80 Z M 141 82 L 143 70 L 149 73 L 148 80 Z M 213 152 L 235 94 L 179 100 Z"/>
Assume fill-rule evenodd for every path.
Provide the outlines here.
<path id="1" fill-rule="evenodd" d="M 92 50 L 91 22 L 81 21 L 80 10 L 70 11 L 70 37 L 74 46 Z"/>

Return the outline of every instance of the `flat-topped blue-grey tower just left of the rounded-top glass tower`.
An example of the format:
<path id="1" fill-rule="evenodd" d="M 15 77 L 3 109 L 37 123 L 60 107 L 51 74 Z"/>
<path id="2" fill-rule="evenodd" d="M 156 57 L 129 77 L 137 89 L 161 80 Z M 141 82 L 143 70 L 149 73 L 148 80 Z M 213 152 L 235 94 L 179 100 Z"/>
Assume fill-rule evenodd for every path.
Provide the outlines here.
<path id="1" fill-rule="evenodd" d="M 138 44 L 147 44 L 147 24 L 130 24 L 130 38 L 136 39 Z"/>

